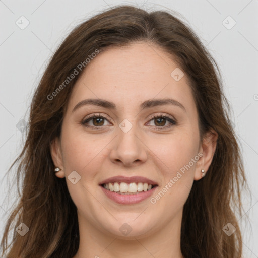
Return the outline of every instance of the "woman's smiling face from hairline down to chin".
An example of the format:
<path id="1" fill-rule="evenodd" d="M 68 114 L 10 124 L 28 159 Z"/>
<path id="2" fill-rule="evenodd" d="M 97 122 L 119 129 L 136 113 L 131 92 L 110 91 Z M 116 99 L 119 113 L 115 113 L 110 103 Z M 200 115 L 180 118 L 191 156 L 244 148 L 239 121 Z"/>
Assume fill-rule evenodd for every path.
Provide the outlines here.
<path id="1" fill-rule="evenodd" d="M 208 165 L 178 69 L 158 46 L 134 43 L 99 53 L 77 81 L 51 154 L 80 225 L 119 237 L 180 226 L 193 180 Z"/>

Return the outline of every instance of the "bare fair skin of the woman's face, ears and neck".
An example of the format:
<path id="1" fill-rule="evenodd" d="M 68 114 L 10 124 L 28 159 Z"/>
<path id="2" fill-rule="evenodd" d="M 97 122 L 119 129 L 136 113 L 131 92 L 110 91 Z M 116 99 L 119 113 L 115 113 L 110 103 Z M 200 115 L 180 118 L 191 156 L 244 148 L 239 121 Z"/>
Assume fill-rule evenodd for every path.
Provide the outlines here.
<path id="1" fill-rule="evenodd" d="M 78 210 L 80 246 L 74 258 L 183 257 L 183 205 L 193 181 L 202 179 L 201 169 L 207 171 L 212 162 L 217 134 L 208 132 L 201 142 L 197 107 L 186 75 L 179 81 L 170 76 L 177 67 L 158 46 L 133 43 L 99 53 L 77 81 L 61 136 L 51 144 L 53 162 L 61 169 L 56 176 L 66 177 Z M 146 100 L 168 97 L 185 110 L 175 105 L 140 110 Z M 85 105 L 72 112 L 89 98 L 112 101 L 117 108 Z M 99 130 L 93 120 L 88 122 L 91 127 L 81 123 L 93 113 L 107 117 Z M 177 124 L 166 127 L 171 123 L 165 120 L 159 125 L 152 114 L 169 116 Z M 133 126 L 127 133 L 118 126 L 124 119 Z M 150 198 L 138 204 L 117 204 L 99 186 L 112 176 L 143 176 L 158 183 L 155 197 L 198 153 L 203 156 L 155 204 Z M 76 184 L 68 180 L 72 171 L 81 176 Z M 124 223 L 132 228 L 127 236 L 119 230 Z"/>

